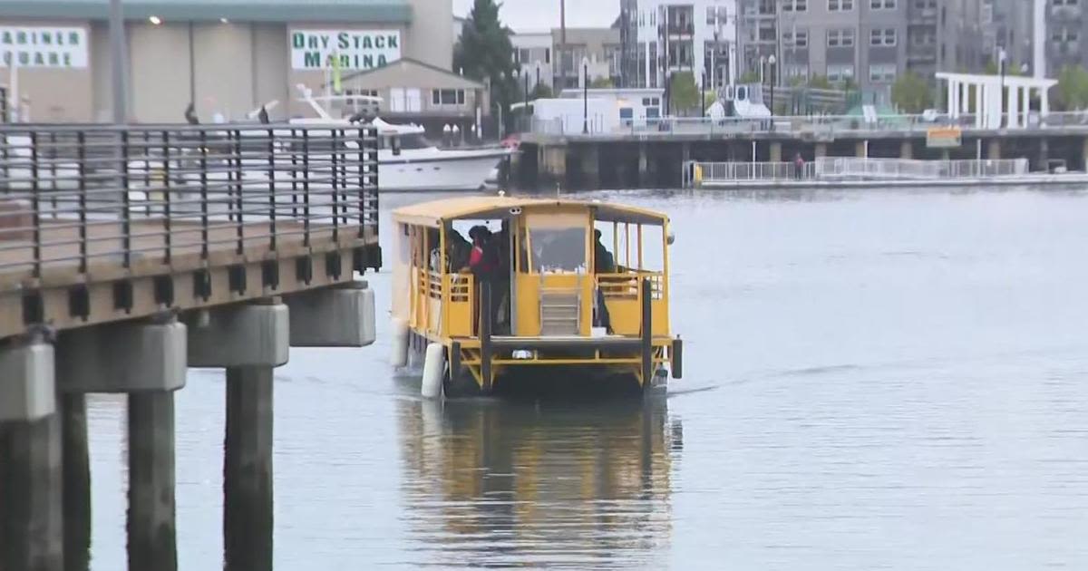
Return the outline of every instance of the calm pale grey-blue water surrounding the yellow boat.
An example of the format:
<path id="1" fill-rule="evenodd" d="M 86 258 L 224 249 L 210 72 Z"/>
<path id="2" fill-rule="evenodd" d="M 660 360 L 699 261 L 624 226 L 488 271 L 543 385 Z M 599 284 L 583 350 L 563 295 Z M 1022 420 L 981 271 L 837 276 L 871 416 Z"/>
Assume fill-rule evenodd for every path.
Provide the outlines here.
<path id="1" fill-rule="evenodd" d="M 374 347 L 293 350 L 277 569 L 1088 568 L 1088 194 L 597 197 L 672 214 L 687 378 L 443 410 L 391 371 L 384 319 Z M 194 371 L 177 396 L 186 570 L 222 564 L 223 392 Z M 115 571 L 124 405 L 90 406 Z"/>

